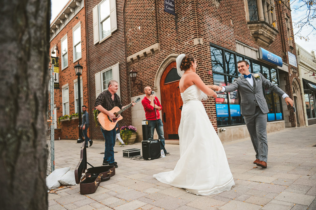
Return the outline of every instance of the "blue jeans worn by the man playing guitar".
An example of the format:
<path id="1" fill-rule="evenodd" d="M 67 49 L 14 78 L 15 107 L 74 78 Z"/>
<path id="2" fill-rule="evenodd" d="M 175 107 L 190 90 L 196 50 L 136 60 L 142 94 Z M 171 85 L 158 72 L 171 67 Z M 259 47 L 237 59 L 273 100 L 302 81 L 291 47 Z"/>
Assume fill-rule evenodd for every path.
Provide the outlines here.
<path id="1" fill-rule="evenodd" d="M 105 150 L 104 150 L 104 158 L 103 160 L 107 161 L 108 163 L 114 162 L 114 143 L 115 143 L 115 136 L 116 131 L 115 128 L 113 130 L 107 131 L 101 128 L 105 139 Z"/>

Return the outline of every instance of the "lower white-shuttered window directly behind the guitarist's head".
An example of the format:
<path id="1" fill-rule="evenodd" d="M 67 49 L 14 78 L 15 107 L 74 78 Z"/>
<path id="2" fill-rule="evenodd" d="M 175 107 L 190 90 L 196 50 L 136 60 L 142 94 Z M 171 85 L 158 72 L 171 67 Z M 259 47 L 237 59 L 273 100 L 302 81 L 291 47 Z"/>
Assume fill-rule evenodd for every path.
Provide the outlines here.
<path id="1" fill-rule="evenodd" d="M 105 90 L 107 90 L 107 85 L 110 80 L 116 80 L 119 82 L 119 63 L 106 68 L 94 75 L 95 77 L 95 98 Z M 120 87 L 116 93 L 120 96 Z"/>

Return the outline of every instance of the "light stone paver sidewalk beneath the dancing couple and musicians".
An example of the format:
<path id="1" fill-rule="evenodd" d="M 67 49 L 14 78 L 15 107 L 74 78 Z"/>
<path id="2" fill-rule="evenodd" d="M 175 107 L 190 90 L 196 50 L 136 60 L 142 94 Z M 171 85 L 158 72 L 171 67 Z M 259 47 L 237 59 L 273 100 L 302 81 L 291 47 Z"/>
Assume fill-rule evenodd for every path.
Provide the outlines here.
<path id="1" fill-rule="evenodd" d="M 114 147 L 115 176 L 101 182 L 95 193 L 81 195 L 79 185 L 49 193 L 49 209 L 316 209 L 316 125 L 286 128 L 268 134 L 268 167 L 256 167 L 250 138 L 224 143 L 236 185 L 230 191 L 197 196 L 184 189 L 158 182 L 153 174 L 169 171 L 179 159 L 179 145 L 166 145 L 171 155 L 155 160 L 123 157 L 123 149 L 141 143 Z M 81 144 L 55 141 L 55 168 L 75 169 Z M 87 149 L 88 162 L 102 165 L 104 141 Z"/>

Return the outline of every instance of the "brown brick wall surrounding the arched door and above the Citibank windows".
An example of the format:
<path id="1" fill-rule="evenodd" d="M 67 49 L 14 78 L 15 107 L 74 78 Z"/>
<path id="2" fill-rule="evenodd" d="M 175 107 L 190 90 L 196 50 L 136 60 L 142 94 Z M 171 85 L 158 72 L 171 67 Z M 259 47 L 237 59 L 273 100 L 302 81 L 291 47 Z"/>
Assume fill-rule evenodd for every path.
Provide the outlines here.
<path id="1" fill-rule="evenodd" d="M 277 34 L 275 41 L 269 47 L 260 46 L 246 22 L 244 1 L 234 0 L 221 2 L 218 8 L 213 1 L 177 1 L 177 22 L 174 16 L 163 11 L 163 1 L 129 1 L 126 3 L 126 52 L 127 56 L 152 45 L 160 44 L 160 52 L 143 60 L 134 62 L 129 66 L 130 70 L 137 71 L 137 79 L 143 81 L 144 86 L 153 86 L 156 72 L 162 61 L 172 53 L 191 54 L 197 58 L 197 73 L 207 84 L 213 84 L 213 78 L 207 74 L 211 70 L 210 43 L 223 48 L 236 51 L 236 40 L 252 48 L 263 47 L 268 51 L 283 58 L 283 63 L 288 64 L 287 51 L 295 54 L 295 43 L 290 49 L 284 13 L 291 17 L 290 10 L 281 10 L 283 7 L 276 2 Z M 240 8 L 240 9 L 236 9 Z M 136 12 L 135 12 L 136 11 Z M 140 26 L 140 29 L 138 28 Z M 293 33 L 293 31 L 292 31 Z M 293 34 L 292 34 L 293 35 Z M 203 45 L 193 44 L 194 38 L 203 38 Z M 291 73 L 289 67 L 289 73 Z M 292 97 L 292 82 L 298 78 L 295 73 L 285 74 L 287 82 L 285 91 Z M 139 95 L 140 92 L 131 87 L 131 95 Z M 215 128 L 216 110 L 215 100 L 204 102 L 206 111 Z M 290 109 L 289 120 L 295 126 L 295 115 Z"/>

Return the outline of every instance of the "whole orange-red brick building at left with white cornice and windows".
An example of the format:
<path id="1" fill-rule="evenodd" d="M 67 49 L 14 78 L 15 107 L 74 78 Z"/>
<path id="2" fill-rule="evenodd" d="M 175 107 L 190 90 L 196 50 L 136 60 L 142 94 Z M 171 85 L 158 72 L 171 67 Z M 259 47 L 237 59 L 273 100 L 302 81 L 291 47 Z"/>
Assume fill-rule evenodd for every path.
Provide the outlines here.
<path id="1" fill-rule="evenodd" d="M 89 109 L 84 0 L 67 2 L 52 21 L 50 29 L 51 56 L 59 59 L 59 72 L 56 74 L 59 87 L 54 90 L 55 139 L 78 139 L 79 120 L 75 113 L 82 109 L 78 107 L 78 79 L 74 69 L 78 63 L 83 66 L 80 77 L 81 105 L 86 105 L 88 112 L 91 110 Z M 90 118 L 91 120 L 93 118 Z"/>

